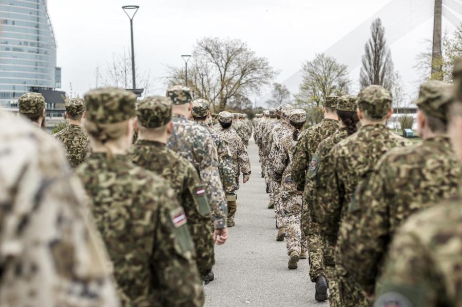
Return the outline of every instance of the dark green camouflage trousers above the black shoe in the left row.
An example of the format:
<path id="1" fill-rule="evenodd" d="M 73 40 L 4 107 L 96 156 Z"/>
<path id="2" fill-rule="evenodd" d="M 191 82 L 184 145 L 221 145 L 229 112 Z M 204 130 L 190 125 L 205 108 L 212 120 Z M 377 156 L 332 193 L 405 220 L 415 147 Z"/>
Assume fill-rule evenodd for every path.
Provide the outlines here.
<path id="1" fill-rule="evenodd" d="M 210 272 L 215 264 L 214 229 L 210 223 L 204 228 L 203 224 L 188 223 L 192 241 L 196 247 L 196 263 L 199 274 L 203 277 Z M 206 229 L 206 233 L 204 233 Z"/>

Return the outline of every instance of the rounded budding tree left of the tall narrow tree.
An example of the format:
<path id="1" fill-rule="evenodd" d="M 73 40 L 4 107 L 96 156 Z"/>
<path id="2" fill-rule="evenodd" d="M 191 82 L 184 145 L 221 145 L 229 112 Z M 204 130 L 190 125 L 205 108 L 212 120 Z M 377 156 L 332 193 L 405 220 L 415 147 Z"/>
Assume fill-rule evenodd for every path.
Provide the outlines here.
<path id="1" fill-rule="evenodd" d="M 297 106 L 309 115 L 307 121 L 316 124 L 322 119 L 321 106 L 330 95 L 348 93 L 351 80 L 346 65 L 337 63 L 335 58 L 323 53 L 316 54 L 312 61 L 302 67 L 302 84 L 295 95 Z"/>

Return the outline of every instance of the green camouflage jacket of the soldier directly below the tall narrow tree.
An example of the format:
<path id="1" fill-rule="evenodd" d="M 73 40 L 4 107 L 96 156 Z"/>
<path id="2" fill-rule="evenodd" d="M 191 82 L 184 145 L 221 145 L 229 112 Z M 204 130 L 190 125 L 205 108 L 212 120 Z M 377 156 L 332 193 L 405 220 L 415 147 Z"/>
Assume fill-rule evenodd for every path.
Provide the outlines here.
<path id="1" fill-rule="evenodd" d="M 316 188 L 318 204 L 316 219 L 323 235 L 332 245 L 337 242 L 340 221 L 360 180 L 368 175 L 381 156 L 395 147 L 410 142 L 381 124 L 362 126 L 358 132 L 340 141 L 319 167 Z M 317 180 L 318 181 L 318 180 Z M 321 209 L 321 210 L 319 210 Z"/>

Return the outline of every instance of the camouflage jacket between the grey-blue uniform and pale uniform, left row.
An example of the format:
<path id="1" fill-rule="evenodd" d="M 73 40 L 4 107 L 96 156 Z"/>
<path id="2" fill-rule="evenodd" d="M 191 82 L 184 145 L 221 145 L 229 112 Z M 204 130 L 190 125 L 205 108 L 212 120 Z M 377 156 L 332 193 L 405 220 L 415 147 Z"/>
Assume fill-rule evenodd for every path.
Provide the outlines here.
<path id="1" fill-rule="evenodd" d="M 236 190 L 236 178 L 234 177 L 233 171 L 233 157 L 229 151 L 229 147 L 225 141 L 210 127 L 205 124 L 198 123 L 202 127 L 206 128 L 214 140 L 215 148 L 218 154 L 218 170 L 220 172 L 221 183 L 226 193 L 232 193 Z"/>

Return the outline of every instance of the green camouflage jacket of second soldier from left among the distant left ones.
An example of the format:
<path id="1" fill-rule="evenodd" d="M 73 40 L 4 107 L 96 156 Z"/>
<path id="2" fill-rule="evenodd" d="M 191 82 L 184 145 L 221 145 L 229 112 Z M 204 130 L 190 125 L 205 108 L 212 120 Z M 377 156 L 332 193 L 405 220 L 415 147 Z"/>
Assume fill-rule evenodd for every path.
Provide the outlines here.
<path id="1" fill-rule="evenodd" d="M 70 166 L 78 167 L 90 154 L 90 139 L 85 129 L 78 125 L 69 125 L 53 135 L 64 144 Z"/>

